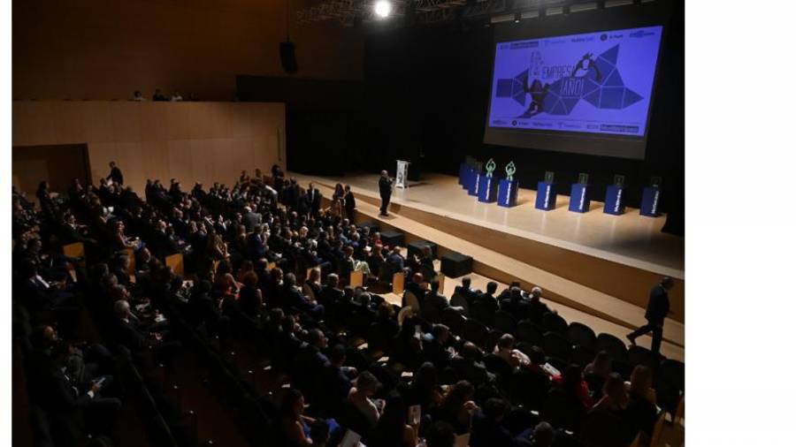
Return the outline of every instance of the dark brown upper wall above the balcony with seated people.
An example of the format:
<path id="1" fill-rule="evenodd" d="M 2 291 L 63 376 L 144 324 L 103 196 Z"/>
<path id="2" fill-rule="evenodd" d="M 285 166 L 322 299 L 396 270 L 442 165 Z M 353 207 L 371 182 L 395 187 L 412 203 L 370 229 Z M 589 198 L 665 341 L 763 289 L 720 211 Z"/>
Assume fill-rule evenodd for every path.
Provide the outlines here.
<path id="1" fill-rule="evenodd" d="M 13 2 L 13 97 L 129 99 L 175 90 L 231 101 L 235 75 L 286 76 L 279 42 L 295 42 L 309 79 L 362 78 L 359 29 L 335 20 L 299 26 L 315 0 L 18 0 Z"/>

